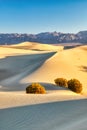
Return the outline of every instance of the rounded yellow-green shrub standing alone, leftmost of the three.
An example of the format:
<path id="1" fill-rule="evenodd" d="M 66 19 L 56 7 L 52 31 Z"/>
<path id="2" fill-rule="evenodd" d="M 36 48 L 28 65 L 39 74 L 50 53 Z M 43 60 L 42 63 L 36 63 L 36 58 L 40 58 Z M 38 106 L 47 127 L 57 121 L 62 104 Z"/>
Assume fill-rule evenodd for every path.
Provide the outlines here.
<path id="1" fill-rule="evenodd" d="M 26 93 L 45 94 L 45 88 L 39 83 L 32 83 L 26 88 Z"/>

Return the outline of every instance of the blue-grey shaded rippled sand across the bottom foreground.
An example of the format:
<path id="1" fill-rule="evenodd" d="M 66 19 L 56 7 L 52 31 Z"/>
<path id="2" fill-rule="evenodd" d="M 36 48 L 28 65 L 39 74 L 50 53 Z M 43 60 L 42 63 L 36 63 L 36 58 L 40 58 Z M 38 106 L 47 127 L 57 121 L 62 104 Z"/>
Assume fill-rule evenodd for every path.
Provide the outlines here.
<path id="1" fill-rule="evenodd" d="M 0 110 L 1 130 L 87 130 L 87 100 Z"/>

